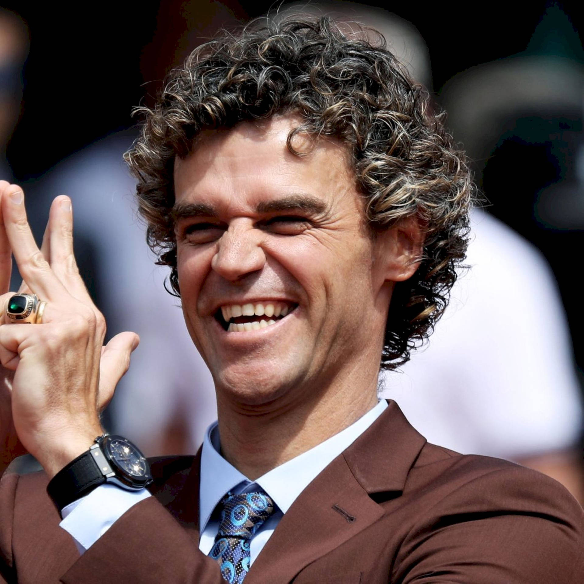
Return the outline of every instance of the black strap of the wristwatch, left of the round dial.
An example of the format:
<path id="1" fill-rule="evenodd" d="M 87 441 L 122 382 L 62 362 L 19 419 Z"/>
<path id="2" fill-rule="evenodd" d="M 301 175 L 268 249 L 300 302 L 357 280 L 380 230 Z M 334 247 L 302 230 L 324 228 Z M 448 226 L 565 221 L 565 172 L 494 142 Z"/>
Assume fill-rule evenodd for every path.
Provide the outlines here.
<path id="1" fill-rule="evenodd" d="M 96 458 L 99 458 L 99 463 L 104 464 L 103 471 Z M 102 451 L 99 448 L 92 448 L 57 472 L 47 485 L 48 496 L 53 499 L 61 513 L 64 507 L 103 485 L 109 472 L 112 472 L 112 469 Z"/>

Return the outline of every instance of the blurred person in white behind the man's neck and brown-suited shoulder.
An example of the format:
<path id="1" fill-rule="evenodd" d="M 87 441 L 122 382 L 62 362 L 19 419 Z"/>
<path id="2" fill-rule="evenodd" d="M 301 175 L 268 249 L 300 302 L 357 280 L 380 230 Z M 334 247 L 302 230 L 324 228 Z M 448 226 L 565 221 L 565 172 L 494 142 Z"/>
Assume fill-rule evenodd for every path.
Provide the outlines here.
<path id="1" fill-rule="evenodd" d="M 484 211 L 471 227 L 470 270 L 429 345 L 385 376 L 385 395 L 430 442 L 535 468 L 582 501 L 579 384 L 553 274 Z"/>

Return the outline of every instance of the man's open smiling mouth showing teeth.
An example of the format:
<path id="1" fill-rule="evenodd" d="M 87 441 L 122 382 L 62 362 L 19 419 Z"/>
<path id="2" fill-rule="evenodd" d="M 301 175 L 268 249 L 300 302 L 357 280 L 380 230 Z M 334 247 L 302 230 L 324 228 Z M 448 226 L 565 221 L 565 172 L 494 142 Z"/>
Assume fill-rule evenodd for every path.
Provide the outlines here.
<path id="1" fill-rule="evenodd" d="M 228 304 L 218 308 L 215 319 L 227 332 L 259 331 L 281 321 L 298 304 L 291 302 L 256 302 L 253 304 Z"/>

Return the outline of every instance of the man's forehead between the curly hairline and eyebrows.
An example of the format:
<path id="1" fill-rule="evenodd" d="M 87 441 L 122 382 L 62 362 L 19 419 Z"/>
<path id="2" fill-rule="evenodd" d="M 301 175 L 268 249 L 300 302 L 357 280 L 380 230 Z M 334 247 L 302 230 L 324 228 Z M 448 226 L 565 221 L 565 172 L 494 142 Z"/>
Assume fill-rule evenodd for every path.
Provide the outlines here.
<path id="1" fill-rule="evenodd" d="M 354 173 L 339 141 L 297 135 L 293 146 L 304 155 L 288 150 L 288 134 L 300 123 L 288 116 L 206 131 L 186 158 L 175 161 L 176 202 L 204 201 L 237 211 L 308 194 L 328 206 L 357 206 Z"/>

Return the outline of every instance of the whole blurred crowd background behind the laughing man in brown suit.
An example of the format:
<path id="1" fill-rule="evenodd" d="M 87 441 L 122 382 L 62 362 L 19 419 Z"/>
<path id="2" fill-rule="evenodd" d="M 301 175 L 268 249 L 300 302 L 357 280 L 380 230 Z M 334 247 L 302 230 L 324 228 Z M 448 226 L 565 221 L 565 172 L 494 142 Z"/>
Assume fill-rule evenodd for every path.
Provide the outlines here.
<path id="1" fill-rule="evenodd" d="M 385 34 L 449 112 L 485 199 L 472 218 L 472 269 L 429 346 L 383 377 L 384 397 L 430 441 L 533 466 L 582 500 L 578 4 L 336 1 L 310 11 Z M 25 187 L 39 235 L 50 200 L 72 197 L 77 255 L 108 335 L 140 333 L 106 424 L 148 454 L 192 452 L 214 419 L 211 378 L 144 244 L 121 154 L 135 137 L 132 107 L 151 103 L 170 68 L 218 28 L 274 5 L 105 2 L 91 18 L 66 4 L 1 6 L 0 178 Z"/>

